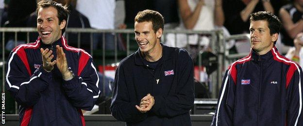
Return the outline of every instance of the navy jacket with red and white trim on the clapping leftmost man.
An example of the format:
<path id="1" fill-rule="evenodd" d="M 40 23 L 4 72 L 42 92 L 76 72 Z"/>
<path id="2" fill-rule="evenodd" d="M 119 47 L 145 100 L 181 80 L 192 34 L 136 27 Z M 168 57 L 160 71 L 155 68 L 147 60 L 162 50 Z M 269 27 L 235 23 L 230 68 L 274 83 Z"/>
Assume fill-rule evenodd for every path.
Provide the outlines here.
<path id="1" fill-rule="evenodd" d="M 68 67 L 75 77 L 65 81 L 57 68 L 42 68 L 40 48 L 63 47 Z M 8 58 L 5 86 L 21 106 L 20 126 L 83 126 L 82 110 L 91 110 L 100 94 L 99 78 L 92 57 L 82 49 L 69 47 L 62 36 L 51 45 L 40 38 L 12 50 Z"/>

